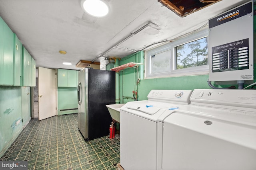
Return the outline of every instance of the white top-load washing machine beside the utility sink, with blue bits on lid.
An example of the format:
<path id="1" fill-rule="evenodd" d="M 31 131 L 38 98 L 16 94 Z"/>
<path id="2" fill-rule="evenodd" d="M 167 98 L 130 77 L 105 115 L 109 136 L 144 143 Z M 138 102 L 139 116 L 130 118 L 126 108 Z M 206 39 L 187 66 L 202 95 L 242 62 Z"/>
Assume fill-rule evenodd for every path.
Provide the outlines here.
<path id="1" fill-rule="evenodd" d="M 120 164 L 125 170 L 156 170 L 157 120 L 190 104 L 192 90 L 151 90 L 148 100 L 120 108 Z"/>

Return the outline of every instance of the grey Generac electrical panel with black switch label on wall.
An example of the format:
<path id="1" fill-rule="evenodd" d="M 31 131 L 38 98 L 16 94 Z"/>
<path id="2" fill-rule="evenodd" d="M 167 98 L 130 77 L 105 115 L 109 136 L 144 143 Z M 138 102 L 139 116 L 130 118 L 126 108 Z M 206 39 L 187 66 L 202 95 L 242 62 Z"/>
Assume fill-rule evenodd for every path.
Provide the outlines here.
<path id="1" fill-rule="evenodd" d="M 253 80 L 253 2 L 209 20 L 209 81 Z"/>

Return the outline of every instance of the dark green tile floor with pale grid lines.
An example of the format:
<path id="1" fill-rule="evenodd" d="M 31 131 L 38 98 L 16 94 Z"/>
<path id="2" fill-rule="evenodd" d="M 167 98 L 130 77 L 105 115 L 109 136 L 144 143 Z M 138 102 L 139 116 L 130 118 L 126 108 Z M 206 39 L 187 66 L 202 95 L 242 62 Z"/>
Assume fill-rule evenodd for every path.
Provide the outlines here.
<path id="1" fill-rule="evenodd" d="M 27 160 L 29 170 L 116 170 L 120 136 L 84 141 L 78 115 L 32 119 L 0 160 Z"/>

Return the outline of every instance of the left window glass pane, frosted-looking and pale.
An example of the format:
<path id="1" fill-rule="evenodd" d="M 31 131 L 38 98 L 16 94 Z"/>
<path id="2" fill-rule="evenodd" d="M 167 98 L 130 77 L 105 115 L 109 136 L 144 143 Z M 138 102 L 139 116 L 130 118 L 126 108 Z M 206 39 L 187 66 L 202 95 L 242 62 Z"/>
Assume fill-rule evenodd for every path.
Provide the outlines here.
<path id="1" fill-rule="evenodd" d="M 150 73 L 170 72 L 171 70 L 171 50 L 163 51 L 150 56 Z"/>

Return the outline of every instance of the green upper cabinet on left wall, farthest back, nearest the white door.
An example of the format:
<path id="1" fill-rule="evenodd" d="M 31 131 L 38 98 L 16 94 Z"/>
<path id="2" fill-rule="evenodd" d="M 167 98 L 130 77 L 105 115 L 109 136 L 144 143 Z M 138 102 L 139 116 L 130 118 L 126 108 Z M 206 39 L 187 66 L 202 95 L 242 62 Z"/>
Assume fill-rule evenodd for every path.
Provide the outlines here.
<path id="1" fill-rule="evenodd" d="M 36 62 L 22 47 L 22 86 L 36 86 Z"/>

